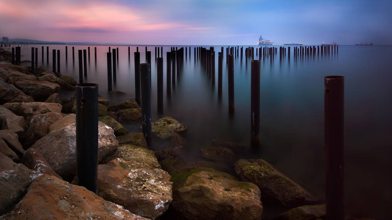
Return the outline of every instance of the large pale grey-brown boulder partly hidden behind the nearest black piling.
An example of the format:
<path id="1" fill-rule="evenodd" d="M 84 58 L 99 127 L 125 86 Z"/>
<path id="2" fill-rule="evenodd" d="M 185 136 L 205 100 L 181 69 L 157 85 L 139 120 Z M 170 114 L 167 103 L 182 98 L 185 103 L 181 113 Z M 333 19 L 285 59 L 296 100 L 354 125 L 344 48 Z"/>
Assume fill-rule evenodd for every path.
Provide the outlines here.
<path id="1" fill-rule="evenodd" d="M 98 122 L 98 162 L 117 145 L 113 129 Z M 76 123 L 48 133 L 31 147 L 38 150 L 63 179 L 76 175 Z"/>

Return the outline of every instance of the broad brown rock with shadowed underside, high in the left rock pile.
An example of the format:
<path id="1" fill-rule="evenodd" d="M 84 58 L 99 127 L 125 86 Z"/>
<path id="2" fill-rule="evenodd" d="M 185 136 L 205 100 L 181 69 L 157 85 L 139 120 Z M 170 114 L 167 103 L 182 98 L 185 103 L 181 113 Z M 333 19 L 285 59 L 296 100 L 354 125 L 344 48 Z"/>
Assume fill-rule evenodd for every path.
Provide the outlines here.
<path id="1" fill-rule="evenodd" d="M 44 101 L 51 94 L 60 91 L 60 86 L 57 83 L 48 81 L 11 77 L 8 83 L 14 85 L 26 95 L 31 96 L 34 100 L 38 101 Z"/>

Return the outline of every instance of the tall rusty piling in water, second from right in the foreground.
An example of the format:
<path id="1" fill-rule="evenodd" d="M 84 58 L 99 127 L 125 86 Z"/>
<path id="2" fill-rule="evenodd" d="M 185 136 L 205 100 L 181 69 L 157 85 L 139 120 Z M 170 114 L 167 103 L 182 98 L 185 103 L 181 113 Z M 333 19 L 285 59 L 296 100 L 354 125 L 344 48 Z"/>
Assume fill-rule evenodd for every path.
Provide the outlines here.
<path id="1" fill-rule="evenodd" d="M 250 143 L 260 144 L 260 60 L 250 61 Z"/>

